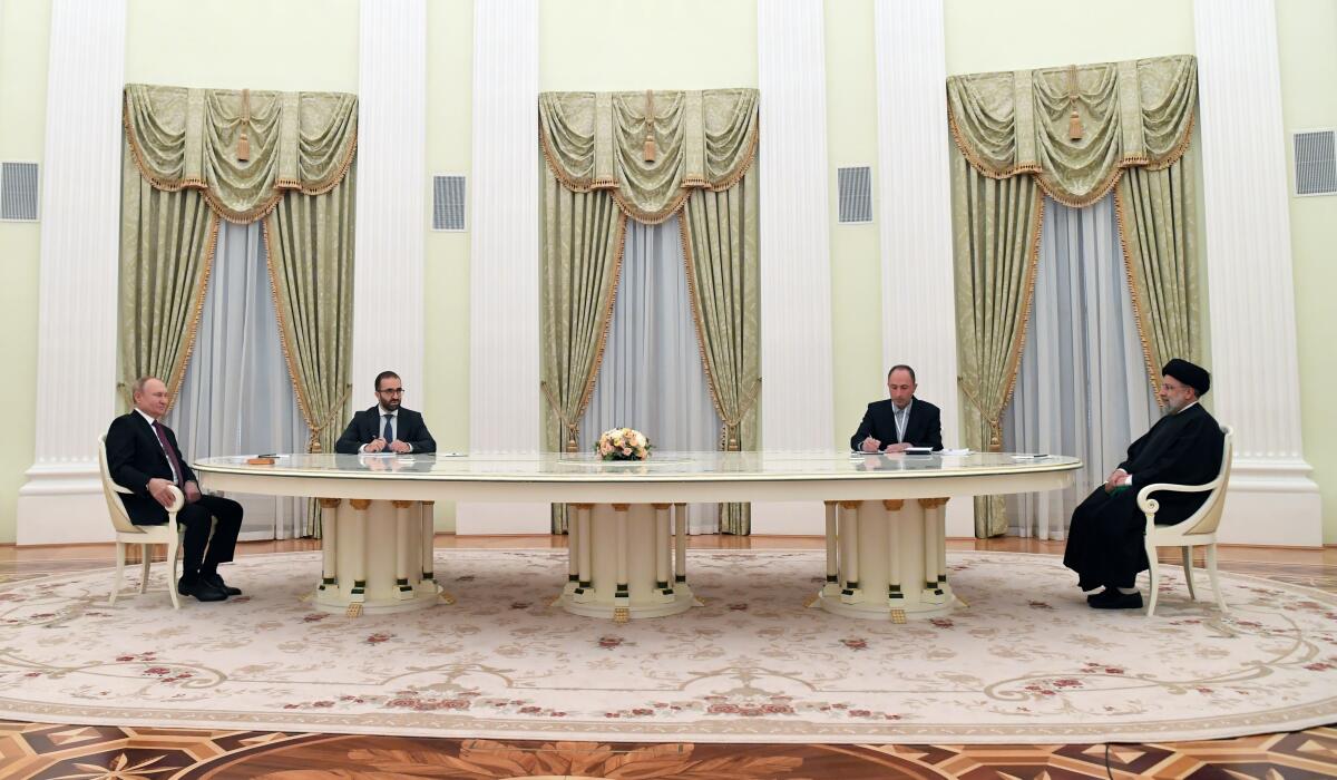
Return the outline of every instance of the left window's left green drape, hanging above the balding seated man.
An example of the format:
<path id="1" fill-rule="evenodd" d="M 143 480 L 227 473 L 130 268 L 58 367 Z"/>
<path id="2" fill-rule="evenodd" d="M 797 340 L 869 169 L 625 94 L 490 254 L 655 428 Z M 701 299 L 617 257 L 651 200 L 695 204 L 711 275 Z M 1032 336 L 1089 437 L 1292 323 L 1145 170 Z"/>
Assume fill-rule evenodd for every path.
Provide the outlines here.
<path id="1" fill-rule="evenodd" d="M 218 217 L 199 193 L 159 190 L 135 170 L 126 144 L 120 187 L 120 383 L 158 376 L 175 400 L 195 344 Z"/>

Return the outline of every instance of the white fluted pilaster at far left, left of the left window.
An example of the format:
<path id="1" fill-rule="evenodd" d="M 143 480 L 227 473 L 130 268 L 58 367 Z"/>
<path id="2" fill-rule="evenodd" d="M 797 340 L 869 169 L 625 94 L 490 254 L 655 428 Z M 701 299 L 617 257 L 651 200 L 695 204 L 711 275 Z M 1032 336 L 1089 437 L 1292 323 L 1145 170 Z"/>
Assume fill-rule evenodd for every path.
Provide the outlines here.
<path id="1" fill-rule="evenodd" d="M 36 462 L 17 542 L 111 539 L 96 437 L 116 412 L 124 0 L 53 0 L 47 71 Z"/>

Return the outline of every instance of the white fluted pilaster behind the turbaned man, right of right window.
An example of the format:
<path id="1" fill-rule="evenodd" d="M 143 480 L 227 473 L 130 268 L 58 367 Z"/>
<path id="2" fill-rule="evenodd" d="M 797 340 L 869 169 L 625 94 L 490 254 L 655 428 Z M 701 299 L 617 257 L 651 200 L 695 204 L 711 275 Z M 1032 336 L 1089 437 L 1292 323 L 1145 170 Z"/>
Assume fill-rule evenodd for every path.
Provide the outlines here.
<path id="1" fill-rule="evenodd" d="M 1273 0 L 1198 0 L 1198 100 L 1213 391 L 1235 428 L 1230 542 L 1320 545 L 1304 460 L 1286 136 Z M 1266 516 L 1266 523 L 1258 518 Z"/>

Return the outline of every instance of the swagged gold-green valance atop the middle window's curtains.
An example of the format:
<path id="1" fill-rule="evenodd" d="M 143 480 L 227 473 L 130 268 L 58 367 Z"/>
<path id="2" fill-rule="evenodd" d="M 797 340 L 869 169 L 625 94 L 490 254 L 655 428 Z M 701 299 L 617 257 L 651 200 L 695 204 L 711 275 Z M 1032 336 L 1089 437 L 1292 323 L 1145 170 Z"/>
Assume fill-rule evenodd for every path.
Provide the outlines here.
<path id="1" fill-rule="evenodd" d="M 578 193 L 611 190 L 638 222 L 663 222 L 693 189 L 737 185 L 757 157 L 757 90 L 539 95 L 539 142 L 552 175 Z"/>

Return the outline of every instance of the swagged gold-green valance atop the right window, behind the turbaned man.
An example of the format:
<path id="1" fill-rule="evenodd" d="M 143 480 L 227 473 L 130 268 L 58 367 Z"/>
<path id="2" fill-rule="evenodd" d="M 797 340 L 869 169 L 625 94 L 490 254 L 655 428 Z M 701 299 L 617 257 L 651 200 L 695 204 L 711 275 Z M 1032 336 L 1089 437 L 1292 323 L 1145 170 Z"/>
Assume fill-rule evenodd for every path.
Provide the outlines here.
<path id="1" fill-rule="evenodd" d="M 1088 206 L 1130 166 L 1183 157 L 1198 104 L 1198 63 L 1177 55 L 1119 63 L 971 74 L 947 80 L 948 122 L 980 174 L 1035 174 L 1067 206 Z M 1080 138 L 1071 139 L 1076 111 Z"/>

